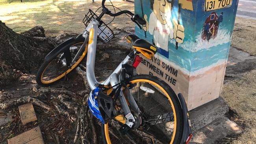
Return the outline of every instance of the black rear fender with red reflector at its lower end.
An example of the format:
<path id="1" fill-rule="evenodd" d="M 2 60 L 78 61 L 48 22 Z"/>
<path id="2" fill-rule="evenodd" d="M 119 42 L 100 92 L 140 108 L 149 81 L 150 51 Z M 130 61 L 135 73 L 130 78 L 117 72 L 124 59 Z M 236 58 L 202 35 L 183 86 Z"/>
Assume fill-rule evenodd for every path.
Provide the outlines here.
<path id="1" fill-rule="evenodd" d="M 183 121 L 184 121 L 182 140 L 181 140 L 180 143 L 181 144 L 186 144 L 186 142 L 189 141 L 190 138 L 192 137 L 191 124 L 190 124 L 190 120 L 189 120 L 187 104 L 186 104 L 186 102 L 184 100 L 183 95 L 181 93 L 179 93 L 178 94 L 178 98 L 179 98 L 180 104 L 182 106 Z"/>

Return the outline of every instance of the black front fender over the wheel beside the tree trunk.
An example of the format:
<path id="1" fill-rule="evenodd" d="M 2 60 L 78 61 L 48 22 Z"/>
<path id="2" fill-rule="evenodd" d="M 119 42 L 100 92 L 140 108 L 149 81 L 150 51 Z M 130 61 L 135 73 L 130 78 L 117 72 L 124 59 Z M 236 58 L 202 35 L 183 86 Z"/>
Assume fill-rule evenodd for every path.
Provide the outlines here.
<path id="1" fill-rule="evenodd" d="M 46 55 L 45 61 L 50 61 L 53 57 L 56 57 L 56 55 L 60 52 L 64 52 L 65 50 L 69 49 L 70 45 L 76 44 L 76 42 L 82 42 L 84 40 L 85 38 L 82 37 L 82 34 L 80 34 L 76 37 L 76 39 L 70 38 L 62 42 L 56 48 L 54 48 L 48 55 Z"/>

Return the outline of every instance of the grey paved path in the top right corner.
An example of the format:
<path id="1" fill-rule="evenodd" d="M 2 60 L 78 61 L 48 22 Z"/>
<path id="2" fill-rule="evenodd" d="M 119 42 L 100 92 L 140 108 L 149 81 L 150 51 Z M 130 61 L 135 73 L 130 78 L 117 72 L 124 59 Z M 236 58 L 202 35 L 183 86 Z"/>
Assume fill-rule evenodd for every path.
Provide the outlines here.
<path id="1" fill-rule="evenodd" d="M 236 16 L 256 20 L 256 0 L 239 0 Z"/>

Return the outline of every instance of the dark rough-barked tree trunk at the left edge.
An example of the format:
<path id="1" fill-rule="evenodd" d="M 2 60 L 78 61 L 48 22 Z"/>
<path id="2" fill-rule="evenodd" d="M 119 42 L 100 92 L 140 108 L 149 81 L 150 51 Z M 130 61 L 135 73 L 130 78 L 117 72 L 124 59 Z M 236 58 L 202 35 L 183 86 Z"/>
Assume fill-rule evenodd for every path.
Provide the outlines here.
<path id="1" fill-rule="evenodd" d="M 38 27 L 37 33 L 44 33 L 43 27 Z M 27 35 L 15 33 L 0 20 L 0 85 L 17 78 L 19 71 L 29 72 L 40 66 L 45 54 L 54 47 L 49 38 Z"/>

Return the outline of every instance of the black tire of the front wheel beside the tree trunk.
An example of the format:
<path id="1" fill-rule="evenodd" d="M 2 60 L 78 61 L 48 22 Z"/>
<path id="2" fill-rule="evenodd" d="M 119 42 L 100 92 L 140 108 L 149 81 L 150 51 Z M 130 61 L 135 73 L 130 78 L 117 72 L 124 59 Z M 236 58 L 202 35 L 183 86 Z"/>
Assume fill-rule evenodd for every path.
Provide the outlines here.
<path id="1" fill-rule="evenodd" d="M 67 43 L 65 46 L 67 46 L 67 45 L 72 46 L 72 45 L 74 45 L 74 44 L 76 44 L 76 43 L 80 43 L 80 42 L 84 42 L 84 39 L 74 39 L 73 41 L 70 41 L 69 43 Z M 65 47 L 65 46 L 63 46 L 63 47 Z M 85 51 L 85 50 L 84 50 L 84 51 Z M 84 51 L 82 51 L 82 52 L 84 52 Z M 62 51 L 59 51 L 58 53 L 61 54 L 61 53 L 63 53 L 63 52 L 62 52 Z M 58 55 L 58 54 L 56 54 L 56 55 Z M 59 81 L 60 79 L 63 78 L 63 77 L 62 77 L 62 78 L 60 78 L 60 79 L 58 79 L 58 80 L 56 80 L 56 81 L 54 81 L 54 82 L 52 82 L 52 83 L 48 83 L 48 84 L 45 84 L 45 83 L 43 83 L 43 82 L 41 81 L 41 76 L 42 76 L 42 74 L 43 74 L 45 68 L 48 66 L 49 63 L 52 62 L 52 60 L 53 60 L 54 58 L 55 58 L 55 57 L 51 57 L 51 58 L 49 59 L 49 61 L 44 61 L 43 64 L 40 66 L 39 70 L 37 71 L 37 75 L 36 75 L 36 77 L 35 77 L 35 80 L 36 80 L 36 82 L 37 82 L 38 85 L 41 85 L 41 86 L 43 86 L 43 87 L 47 87 L 47 86 L 52 85 L 52 84 L 54 84 L 55 82 L 57 82 L 57 81 Z M 83 59 L 84 59 L 84 57 L 83 57 Z M 78 66 L 78 65 L 77 65 L 77 66 Z M 74 69 L 75 69 L 75 68 L 73 68 L 72 70 L 74 70 Z M 71 71 L 72 71 L 72 70 L 71 70 Z"/>

